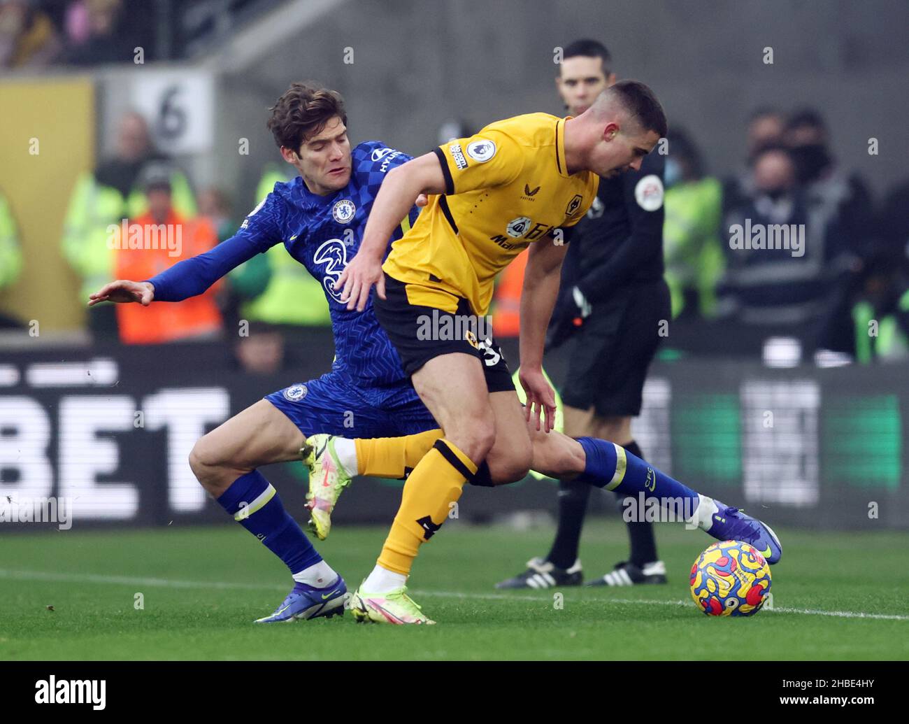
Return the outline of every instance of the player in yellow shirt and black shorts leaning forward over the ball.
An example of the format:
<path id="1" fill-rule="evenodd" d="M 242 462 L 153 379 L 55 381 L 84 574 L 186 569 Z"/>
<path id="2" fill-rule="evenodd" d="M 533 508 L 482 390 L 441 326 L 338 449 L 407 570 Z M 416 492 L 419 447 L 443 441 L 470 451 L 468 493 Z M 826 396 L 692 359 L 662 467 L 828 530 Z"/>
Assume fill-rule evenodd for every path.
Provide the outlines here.
<path id="1" fill-rule="evenodd" d="M 650 89 L 622 81 L 576 118 L 515 116 L 388 173 L 335 288 L 349 309 L 362 310 L 375 285 L 376 317 L 444 437 L 405 483 L 382 555 L 352 600 L 358 618 L 430 622 L 405 594 L 420 545 L 468 479 L 516 480 L 530 468 L 532 430 L 541 416 L 546 433 L 554 422 L 543 347 L 571 226 L 593 203 L 598 176 L 638 168 L 665 133 Z M 428 205 L 383 265 L 386 240 L 419 194 L 431 195 Z M 495 276 L 527 246 L 522 408 L 501 351 L 472 328 L 488 312 Z M 437 332 L 468 328 L 456 338 L 427 335 L 427 320 Z"/>

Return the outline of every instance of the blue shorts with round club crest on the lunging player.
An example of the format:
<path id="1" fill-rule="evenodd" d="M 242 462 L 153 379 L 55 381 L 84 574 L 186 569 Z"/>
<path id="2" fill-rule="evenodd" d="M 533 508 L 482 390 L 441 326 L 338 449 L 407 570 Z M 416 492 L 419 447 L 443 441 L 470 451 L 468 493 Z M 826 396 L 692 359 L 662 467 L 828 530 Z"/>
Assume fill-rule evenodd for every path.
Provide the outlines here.
<path id="1" fill-rule="evenodd" d="M 402 437 L 439 424 L 417 397 L 409 380 L 382 388 L 357 386 L 342 372 L 285 387 L 265 399 L 281 410 L 306 436 Z"/>

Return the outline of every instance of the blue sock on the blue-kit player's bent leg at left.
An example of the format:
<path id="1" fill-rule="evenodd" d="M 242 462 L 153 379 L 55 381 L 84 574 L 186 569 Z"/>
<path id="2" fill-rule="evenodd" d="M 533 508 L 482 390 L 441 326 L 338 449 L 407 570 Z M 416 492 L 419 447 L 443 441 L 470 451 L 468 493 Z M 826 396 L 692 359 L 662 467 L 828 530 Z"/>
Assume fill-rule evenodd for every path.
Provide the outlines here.
<path id="1" fill-rule="evenodd" d="M 218 504 L 285 562 L 291 573 L 315 566 L 322 556 L 285 510 L 275 488 L 258 470 L 236 478 Z"/>

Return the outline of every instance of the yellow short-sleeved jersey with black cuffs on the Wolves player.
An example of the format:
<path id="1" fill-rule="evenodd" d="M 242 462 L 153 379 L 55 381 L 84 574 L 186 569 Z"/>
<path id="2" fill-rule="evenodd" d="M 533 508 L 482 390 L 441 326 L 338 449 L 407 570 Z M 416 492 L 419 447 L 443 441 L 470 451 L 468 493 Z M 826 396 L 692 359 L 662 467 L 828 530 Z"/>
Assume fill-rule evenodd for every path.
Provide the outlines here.
<path id="1" fill-rule="evenodd" d="M 445 194 L 430 196 L 383 266 L 405 282 L 410 304 L 454 313 L 455 297 L 464 297 L 485 315 L 495 275 L 531 242 L 584 216 L 599 176 L 568 174 L 565 120 L 514 116 L 435 149 Z"/>

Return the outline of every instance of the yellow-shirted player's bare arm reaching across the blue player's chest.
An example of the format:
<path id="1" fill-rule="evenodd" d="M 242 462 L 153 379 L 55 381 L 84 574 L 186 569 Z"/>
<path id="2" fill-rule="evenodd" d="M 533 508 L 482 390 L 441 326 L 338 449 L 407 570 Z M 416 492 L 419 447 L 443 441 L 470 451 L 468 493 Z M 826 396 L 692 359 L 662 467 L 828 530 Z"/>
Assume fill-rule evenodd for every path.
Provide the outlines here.
<path id="1" fill-rule="evenodd" d="M 382 259 L 389 236 L 410 212 L 415 198 L 444 192 L 445 176 L 435 154 L 424 154 L 388 172 L 375 196 L 360 250 L 335 282 L 335 289 L 343 290 L 341 301 L 347 302 L 348 309 L 356 307 L 362 312 L 373 285 L 379 297 L 385 299 Z"/>

